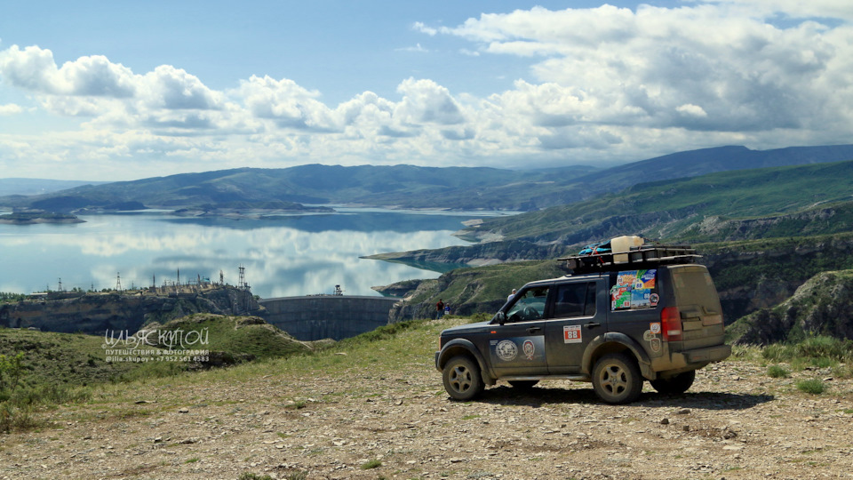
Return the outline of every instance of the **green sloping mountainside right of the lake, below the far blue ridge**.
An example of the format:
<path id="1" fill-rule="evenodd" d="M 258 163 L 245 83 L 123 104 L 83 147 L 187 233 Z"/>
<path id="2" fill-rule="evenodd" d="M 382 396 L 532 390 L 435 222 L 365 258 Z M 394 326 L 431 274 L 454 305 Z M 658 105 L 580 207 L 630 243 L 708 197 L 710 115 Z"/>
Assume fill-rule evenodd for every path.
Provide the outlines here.
<path id="1" fill-rule="evenodd" d="M 660 180 L 585 202 L 485 220 L 469 240 L 574 245 L 620 235 L 721 242 L 853 230 L 853 161 Z"/>

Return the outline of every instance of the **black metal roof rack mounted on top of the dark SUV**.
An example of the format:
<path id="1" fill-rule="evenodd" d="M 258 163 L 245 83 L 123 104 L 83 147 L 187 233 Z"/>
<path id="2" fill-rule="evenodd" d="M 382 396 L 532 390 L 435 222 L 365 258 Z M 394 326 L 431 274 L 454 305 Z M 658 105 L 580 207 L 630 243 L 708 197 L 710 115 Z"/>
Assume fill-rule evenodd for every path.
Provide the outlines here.
<path id="1" fill-rule="evenodd" d="M 557 260 L 565 260 L 572 273 L 583 274 L 695 263 L 696 259 L 701 257 L 695 248 L 686 244 L 643 244 L 623 252 L 594 252 Z"/>

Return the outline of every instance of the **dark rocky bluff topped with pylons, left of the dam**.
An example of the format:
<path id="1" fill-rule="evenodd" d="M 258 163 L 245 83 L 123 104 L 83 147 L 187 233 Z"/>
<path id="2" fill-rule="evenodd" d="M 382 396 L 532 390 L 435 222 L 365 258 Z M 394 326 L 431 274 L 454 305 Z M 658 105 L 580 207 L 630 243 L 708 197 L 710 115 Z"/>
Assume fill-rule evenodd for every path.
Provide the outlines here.
<path id="1" fill-rule="evenodd" d="M 251 292 L 224 286 L 199 293 L 155 295 L 87 293 L 60 300 L 22 300 L 0 305 L 0 327 L 45 332 L 104 334 L 136 332 L 143 325 L 165 324 L 195 313 L 256 315 L 263 312 Z"/>

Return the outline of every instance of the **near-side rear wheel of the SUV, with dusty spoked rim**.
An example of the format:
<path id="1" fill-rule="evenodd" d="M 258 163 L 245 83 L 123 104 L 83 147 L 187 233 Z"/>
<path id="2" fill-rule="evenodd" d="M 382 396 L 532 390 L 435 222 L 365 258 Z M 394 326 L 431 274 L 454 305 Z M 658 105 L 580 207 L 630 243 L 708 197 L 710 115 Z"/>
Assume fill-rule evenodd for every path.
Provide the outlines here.
<path id="1" fill-rule="evenodd" d="M 608 404 L 634 402 L 642 390 L 640 368 L 625 354 L 602 356 L 593 369 L 595 395 Z"/>

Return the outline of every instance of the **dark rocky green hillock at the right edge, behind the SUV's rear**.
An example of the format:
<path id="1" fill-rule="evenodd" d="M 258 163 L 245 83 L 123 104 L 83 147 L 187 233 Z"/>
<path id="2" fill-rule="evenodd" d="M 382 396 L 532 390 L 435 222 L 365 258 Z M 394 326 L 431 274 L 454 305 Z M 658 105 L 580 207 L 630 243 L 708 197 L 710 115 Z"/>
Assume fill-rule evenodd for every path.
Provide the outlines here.
<path id="1" fill-rule="evenodd" d="M 853 339 L 853 270 L 820 273 L 788 300 L 729 327 L 731 340 L 738 344 L 768 345 L 813 335 Z"/>

